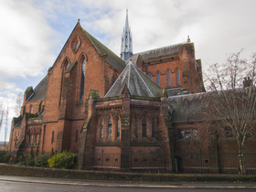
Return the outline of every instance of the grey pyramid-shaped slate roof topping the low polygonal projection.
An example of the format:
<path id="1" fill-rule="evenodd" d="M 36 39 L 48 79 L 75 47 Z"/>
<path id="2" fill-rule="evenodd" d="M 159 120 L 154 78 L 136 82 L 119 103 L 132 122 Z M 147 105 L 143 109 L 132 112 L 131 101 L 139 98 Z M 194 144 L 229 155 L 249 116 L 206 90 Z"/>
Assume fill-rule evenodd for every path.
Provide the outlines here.
<path id="1" fill-rule="evenodd" d="M 159 92 L 162 91 L 155 81 L 150 80 L 130 61 L 104 98 L 121 96 L 125 85 L 133 96 L 159 97 Z"/>

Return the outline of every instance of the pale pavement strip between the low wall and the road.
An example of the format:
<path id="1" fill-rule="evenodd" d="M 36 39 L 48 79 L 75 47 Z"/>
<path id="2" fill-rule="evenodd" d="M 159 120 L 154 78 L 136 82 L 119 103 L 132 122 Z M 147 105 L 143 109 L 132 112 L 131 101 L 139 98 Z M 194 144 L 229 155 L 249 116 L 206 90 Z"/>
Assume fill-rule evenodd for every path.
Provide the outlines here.
<path id="1" fill-rule="evenodd" d="M 46 178 L 33 176 L 0 176 L 0 181 L 37 183 L 50 185 L 88 186 L 88 187 L 141 187 L 141 188 L 201 188 L 201 189 L 256 189 L 255 181 L 247 182 L 148 182 L 88 180 L 68 178 Z"/>

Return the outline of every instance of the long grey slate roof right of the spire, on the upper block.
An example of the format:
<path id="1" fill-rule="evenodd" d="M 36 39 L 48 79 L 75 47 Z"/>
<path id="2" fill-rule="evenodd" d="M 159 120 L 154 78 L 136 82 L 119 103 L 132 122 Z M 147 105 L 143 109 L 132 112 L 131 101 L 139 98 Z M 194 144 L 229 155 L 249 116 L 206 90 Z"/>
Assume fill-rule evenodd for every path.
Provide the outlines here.
<path id="1" fill-rule="evenodd" d="M 143 60 L 148 60 L 148 59 L 158 58 L 160 56 L 177 54 L 179 51 L 179 45 L 186 44 L 186 43 L 187 42 L 167 46 L 164 48 L 155 48 L 155 49 L 144 51 L 141 53 L 136 53 L 136 54 L 133 54 L 131 59 L 132 59 L 133 64 L 136 65 L 136 62 L 137 62 L 139 56 L 141 56 Z M 126 63 L 127 62 L 129 62 L 129 60 L 127 60 Z"/>

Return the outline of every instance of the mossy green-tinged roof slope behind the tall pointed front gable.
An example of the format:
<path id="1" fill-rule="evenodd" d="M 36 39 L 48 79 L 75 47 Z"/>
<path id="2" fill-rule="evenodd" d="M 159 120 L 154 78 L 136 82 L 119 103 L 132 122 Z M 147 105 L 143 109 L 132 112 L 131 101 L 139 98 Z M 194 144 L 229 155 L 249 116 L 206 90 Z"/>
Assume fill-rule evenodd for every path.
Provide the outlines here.
<path id="1" fill-rule="evenodd" d="M 90 33 L 88 33 L 86 30 L 84 30 L 84 33 L 87 37 L 91 40 L 92 45 L 99 51 L 101 56 L 107 55 L 107 63 L 111 65 L 114 69 L 119 70 L 120 72 L 123 71 L 123 69 L 126 67 L 124 61 L 120 59 L 117 55 L 115 55 L 112 50 L 105 47 L 99 40 L 97 40 L 95 37 L 92 37 Z"/>

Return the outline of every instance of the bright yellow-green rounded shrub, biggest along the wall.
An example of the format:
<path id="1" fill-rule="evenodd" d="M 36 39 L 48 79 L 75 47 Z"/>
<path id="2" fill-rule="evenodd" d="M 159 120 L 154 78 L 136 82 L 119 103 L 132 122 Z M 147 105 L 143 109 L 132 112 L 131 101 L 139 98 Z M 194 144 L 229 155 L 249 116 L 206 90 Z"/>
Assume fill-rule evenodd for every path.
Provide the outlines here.
<path id="1" fill-rule="evenodd" d="M 77 154 L 63 151 L 59 155 L 54 155 L 48 159 L 48 165 L 51 168 L 66 168 L 76 169 L 77 168 Z"/>

